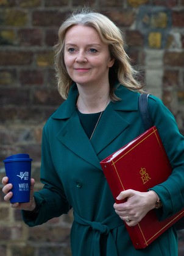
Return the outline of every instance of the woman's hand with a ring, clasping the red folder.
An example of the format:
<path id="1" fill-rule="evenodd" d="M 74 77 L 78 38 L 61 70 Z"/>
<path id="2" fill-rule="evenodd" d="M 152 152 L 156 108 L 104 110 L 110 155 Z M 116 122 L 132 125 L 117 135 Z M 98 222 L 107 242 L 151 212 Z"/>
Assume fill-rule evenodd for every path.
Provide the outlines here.
<path id="1" fill-rule="evenodd" d="M 128 226 L 135 226 L 144 218 L 147 212 L 155 208 L 157 194 L 154 191 L 139 192 L 136 190 L 122 191 L 118 200 L 126 202 L 114 204 L 115 212 L 126 221 Z"/>

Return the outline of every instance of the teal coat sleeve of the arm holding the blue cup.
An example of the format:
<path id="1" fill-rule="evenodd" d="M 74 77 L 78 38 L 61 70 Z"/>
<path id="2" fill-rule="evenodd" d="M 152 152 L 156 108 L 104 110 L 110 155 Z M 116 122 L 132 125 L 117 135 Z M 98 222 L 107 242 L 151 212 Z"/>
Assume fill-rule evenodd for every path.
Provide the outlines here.
<path id="1" fill-rule="evenodd" d="M 66 199 L 62 182 L 52 163 L 49 140 L 46 136 L 46 129 L 43 129 L 41 147 L 41 182 L 43 189 L 35 192 L 35 202 L 38 205 L 38 213 L 22 211 L 23 220 L 29 226 L 37 226 L 44 222 L 68 213 L 70 205 Z"/>

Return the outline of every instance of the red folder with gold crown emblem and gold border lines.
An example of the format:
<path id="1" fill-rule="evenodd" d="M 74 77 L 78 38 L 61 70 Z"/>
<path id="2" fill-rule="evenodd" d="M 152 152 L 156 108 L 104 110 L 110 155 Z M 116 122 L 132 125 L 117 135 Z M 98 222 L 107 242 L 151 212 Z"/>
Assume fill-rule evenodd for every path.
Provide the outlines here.
<path id="1" fill-rule="evenodd" d="M 101 166 L 117 203 L 119 201 L 116 197 L 121 191 L 131 188 L 146 192 L 164 182 L 172 172 L 155 126 L 102 160 Z M 136 226 L 129 227 L 126 224 L 133 246 L 136 249 L 145 248 L 182 216 L 184 209 L 170 218 L 158 221 L 155 210 L 150 210 Z"/>

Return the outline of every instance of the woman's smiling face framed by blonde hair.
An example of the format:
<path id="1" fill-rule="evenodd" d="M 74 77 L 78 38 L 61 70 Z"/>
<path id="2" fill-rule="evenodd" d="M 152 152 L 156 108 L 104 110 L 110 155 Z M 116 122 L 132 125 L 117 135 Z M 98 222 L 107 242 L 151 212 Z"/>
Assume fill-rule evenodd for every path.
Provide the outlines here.
<path id="1" fill-rule="evenodd" d="M 108 45 L 93 27 L 75 25 L 65 35 L 65 65 L 77 85 L 102 85 L 108 82 L 113 66 Z"/>

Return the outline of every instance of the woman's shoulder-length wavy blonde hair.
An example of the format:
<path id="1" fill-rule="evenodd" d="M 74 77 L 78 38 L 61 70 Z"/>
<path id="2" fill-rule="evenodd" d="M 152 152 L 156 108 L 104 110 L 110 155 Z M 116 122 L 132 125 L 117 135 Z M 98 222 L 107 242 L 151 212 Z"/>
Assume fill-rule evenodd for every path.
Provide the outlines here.
<path id="1" fill-rule="evenodd" d="M 110 98 L 118 100 L 114 94 L 115 82 L 124 85 L 130 90 L 141 91 L 143 86 L 134 78 L 137 71 L 130 65 L 130 59 L 124 51 L 124 40 L 121 30 L 101 13 L 92 12 L 89 9 L 82 9 L 74 12 L 63 22 L 58 30 L 58 42 L 54 46 L 55 70 L 58 82 L 58 91 L 61 96 L 68 98 L 69 88 L 73 80 L 69 77 L 64 62 L 65 35 L 67 30 L 74 25 L 90 26 L 97 30 L 99 37 L 108 44 L 111 58 L 115 59 L 114 65 L 109 69 Z"/>

